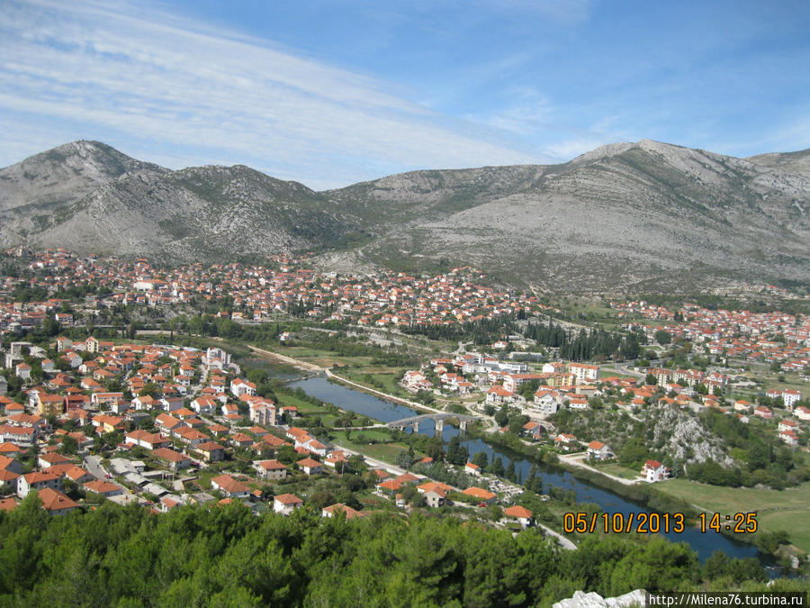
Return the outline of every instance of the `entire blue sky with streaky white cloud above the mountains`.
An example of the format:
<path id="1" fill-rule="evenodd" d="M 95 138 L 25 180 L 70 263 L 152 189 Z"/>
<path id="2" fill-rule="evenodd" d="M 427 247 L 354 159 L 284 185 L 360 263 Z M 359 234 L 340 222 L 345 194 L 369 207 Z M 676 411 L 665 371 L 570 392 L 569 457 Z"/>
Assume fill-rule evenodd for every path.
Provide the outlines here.
<path id="1" fill-rule="evenodd" d="M 0 0 L 0 166 L 94 139 L 316 189 L 644 138 L 810 147 L 810 3 Z"/>

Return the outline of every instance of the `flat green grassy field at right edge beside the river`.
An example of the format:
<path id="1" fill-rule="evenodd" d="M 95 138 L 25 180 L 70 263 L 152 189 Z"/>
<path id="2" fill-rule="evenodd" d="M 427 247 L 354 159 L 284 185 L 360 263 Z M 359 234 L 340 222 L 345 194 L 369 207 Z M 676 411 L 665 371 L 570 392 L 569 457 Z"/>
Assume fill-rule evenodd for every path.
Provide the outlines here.
<path id="1" fill-rule="evenodd" d="M 755 512 L 761 531 L 787 531 L 793 544 L 810 552 L 810 482 L 782 491 L 719 487 L 686 479 L 671 479 L 655 487 L 713 513 Z"/>

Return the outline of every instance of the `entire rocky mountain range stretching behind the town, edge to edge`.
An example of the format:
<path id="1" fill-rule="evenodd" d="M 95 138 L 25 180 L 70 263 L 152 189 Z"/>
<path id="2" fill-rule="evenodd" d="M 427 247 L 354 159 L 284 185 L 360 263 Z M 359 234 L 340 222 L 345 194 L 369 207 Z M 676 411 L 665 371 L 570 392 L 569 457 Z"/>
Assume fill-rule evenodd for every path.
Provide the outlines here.
<path id="1" fill-rule="evenodd" d="M 319 250 L 330 268 L 472 265 L 578 292 L 807 282 L 808 158 L 644 140 L 560 165 L 414 171 L 317 193 L 78 141 L 0 169 L 0 243 L 172 260 Z"/>

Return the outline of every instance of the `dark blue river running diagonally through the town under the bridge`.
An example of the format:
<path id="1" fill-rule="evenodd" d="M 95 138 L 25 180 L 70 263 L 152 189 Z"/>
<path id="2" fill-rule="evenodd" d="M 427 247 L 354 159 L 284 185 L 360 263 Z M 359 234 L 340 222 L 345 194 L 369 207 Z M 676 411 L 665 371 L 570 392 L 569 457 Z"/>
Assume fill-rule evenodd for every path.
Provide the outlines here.
<path id="1" fill-rule="evenodd" d="M 375 397 L 374 395 L 368 395 L 367 393 L 356 391 L 347 386 L 329 382 L 325 377 L 311 377 L 307 380 L 293 382 L 289 386 L 293 388 L 301 387 L 304 392 L 317 397 L 321 401 L 335 404 L 344 410 L 364 414 L 381 422 L 393 422 L 402 418 L 419 415 L 419 412 L 406 405 L 395 404 L 391 401 Z M 422 421 L 419 424 L 419 432 L 426 435 L 434 435 L 436 432 L 434 422 L 430 420 Z M 455 437 L 455 435 L 458 435 L 458 433 L 459 430 L 454 425 L 445 423 L 442 438 L 447 441 Z M 509 460 L 511 459 L 509 456 L 502 450 L 493 448 L 481 439 L 466 439 L 463 440 L 462 443 L 469 450 L 470 458 L 473 458 L 474 454 L 483 451 L 486 452 L 490 462 L 492 458 L 500 457 L 503 459 L 504 466 L 509 466 Z M 520 478 L 525 479 L 533 463 L 526 458 L 520 457 L 516 458 L 514 462 Z M 652 509 L 642 504 L 635 504 L 635 502 L 614 494 L 610 490 L 577 479 L 568 471 L 555 467 L 545 467 L 539 464 L 536 465 L 536 467 L 543 477 L 543 483 L 546 488 L 551 485 L 556 485 L 565 489 L 571 489 L 576 493 L 578 502 L 599 504 L 599 507 L 605 513 L 624 513 L 626 515 L 629 513 L 639 513 L 640 511 L 654 513 Z M 773 567 L 774 559 L 769 555 L 761 553 L 761 551 L 748 543 L 728 539 L 716 532 L 707 532 L 704 534 L 698 531 L 697 528 L 687 528 L 681 533 L 670 532 L 664 534 L 664 536 L 673 542 L 688 543 L 692 549 L 698 552 L 698 558 L 701 563 L 706 561 L 714 551 L 720 549 L 732 558 L 758 558 L 762 565 L 768 568 L 770 576 L 779 576 L 778 568 Z"/>

